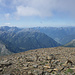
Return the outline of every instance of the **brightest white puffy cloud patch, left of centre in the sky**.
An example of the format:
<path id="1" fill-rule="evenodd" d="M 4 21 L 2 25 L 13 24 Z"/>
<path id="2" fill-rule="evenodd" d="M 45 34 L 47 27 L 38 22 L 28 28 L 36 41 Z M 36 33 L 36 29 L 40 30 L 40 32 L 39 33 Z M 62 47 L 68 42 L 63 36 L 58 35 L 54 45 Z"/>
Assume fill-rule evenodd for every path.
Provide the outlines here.
<path id="1" fill-rule="evenodd" d="M 24 6 L 18 6 L 16 14 L 19 16 L 40 15 L 40 13 L 37 9 L 34 9 L 32 7 L 24 7 Z"/>

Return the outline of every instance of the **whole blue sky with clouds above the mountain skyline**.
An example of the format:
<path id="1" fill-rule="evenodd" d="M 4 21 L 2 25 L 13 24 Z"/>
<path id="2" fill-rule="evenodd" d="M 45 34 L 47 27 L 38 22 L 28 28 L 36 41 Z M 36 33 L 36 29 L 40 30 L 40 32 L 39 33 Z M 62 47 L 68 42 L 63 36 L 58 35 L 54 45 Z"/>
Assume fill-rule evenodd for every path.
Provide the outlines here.
<path id="1" fill-rule="evenodd" d="M 75 0 L 0 0 L 0 26 L 75 26 Z"/>

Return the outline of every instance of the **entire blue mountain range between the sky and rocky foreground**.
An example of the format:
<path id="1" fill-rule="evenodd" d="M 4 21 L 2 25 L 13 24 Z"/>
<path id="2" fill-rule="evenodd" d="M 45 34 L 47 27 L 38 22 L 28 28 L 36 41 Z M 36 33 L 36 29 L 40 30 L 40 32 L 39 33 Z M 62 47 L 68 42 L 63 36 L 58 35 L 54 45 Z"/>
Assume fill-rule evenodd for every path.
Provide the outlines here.
<path id="1" fill-rule="evenodd" d="M 62 45 L 75 47 L 74 39 L 75 27 L 17 28 L 3 26 L 0 27 L 0 52 L 3 51 L 2 55 L 8 55 Z"/>

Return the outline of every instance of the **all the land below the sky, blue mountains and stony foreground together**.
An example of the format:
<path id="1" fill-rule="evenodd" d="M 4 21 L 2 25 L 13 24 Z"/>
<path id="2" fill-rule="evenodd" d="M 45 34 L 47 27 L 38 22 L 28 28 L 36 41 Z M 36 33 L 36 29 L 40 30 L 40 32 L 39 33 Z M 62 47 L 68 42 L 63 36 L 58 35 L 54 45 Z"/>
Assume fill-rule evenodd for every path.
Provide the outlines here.
<path id="1" fill-rule="evenodd" d="M 0 27 L 0 75 L 75 75 L 74 28 L 46 29 Z"/>

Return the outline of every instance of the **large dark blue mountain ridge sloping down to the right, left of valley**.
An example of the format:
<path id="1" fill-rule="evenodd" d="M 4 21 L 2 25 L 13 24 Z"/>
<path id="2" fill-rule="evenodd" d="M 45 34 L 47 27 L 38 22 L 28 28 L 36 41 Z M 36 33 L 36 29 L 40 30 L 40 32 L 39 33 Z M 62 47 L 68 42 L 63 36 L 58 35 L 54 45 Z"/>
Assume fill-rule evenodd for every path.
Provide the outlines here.
<path id="1" fill-rule="evenodd" d="M 44 33 L 35 29 L 20 29 L 17 27 L 1 27 L 0 40 L 11 52 L 23 52 L 37 48 L 60 46 L 59 43 Z"/>

